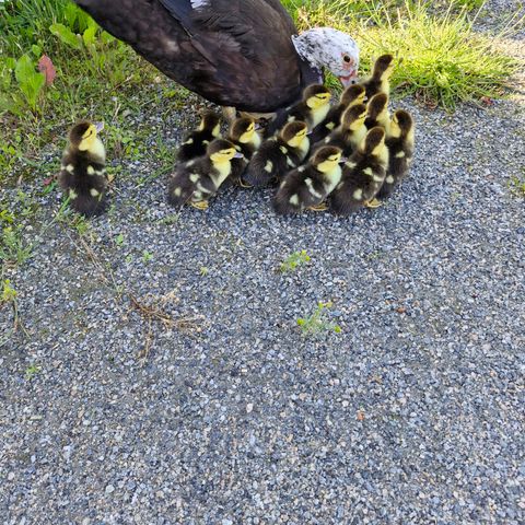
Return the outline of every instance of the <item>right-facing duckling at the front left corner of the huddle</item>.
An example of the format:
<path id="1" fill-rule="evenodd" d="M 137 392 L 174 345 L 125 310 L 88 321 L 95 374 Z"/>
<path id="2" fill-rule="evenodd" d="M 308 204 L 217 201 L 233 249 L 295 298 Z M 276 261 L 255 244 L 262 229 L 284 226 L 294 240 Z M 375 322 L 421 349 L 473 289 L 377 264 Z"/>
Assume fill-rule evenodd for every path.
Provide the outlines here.
<path id="1" fill-rule="evenodd" d="M 229 140 L 214 139 L 206 155 L 177 165 L 167 187 L 167 201 L 172 206 L 189 205 L 198 210 L 208 208 L 208 199 L 217 194 L 232 172 L 232 159 L 243 154 Z"/>

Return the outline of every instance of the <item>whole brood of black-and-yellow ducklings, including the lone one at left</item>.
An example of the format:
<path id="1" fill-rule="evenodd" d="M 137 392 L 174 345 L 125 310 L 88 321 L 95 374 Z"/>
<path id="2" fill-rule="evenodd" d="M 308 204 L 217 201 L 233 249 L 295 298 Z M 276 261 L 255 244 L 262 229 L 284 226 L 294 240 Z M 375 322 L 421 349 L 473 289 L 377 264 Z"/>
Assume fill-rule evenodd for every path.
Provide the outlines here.
<path id="1" fill-rule="evenodd" d="M 235 119 L 222 138 L 220 117 L 203 113 L 178 150 L 168 202 L 205 210 L 230 182 L 278 186 L 273 209 L 280 214 L 329 208 L 347 215 L 381 206 L 405 178 L 413 155 L 412 117 L 402 109 L 392 118 L 388 113 L 393 68 L 393 56 L 381 56 L 372 74 L 347 88 L 334 106 L 326 86 L 310 85 L 265 140 L 252 117 Z M 71 206 L 86 215 L 105 209 L 110 182 L 97 131 L 90 122 L 71 130 L 59 175 Z"/>

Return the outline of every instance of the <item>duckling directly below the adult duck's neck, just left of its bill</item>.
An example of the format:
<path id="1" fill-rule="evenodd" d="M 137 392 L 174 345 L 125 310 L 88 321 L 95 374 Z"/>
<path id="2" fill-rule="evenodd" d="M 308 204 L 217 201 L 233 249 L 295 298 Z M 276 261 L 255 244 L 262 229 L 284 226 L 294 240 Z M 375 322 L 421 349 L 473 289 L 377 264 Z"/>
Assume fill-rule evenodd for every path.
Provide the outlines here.
<path id="1" fill-rule="evenodd" d="M 293 120 L 302 120 L 306 122 L 312 131 L 320 124 L 330 110 L 331 93 L 328 88 L 323 84 L 308 85 L 303 92 L 303 100 L 298 102 L 287 112 L 277 116 L 268 125 L 268 133 L 272 135 L 275 130 L 281 129 L 284 124 Z"/>

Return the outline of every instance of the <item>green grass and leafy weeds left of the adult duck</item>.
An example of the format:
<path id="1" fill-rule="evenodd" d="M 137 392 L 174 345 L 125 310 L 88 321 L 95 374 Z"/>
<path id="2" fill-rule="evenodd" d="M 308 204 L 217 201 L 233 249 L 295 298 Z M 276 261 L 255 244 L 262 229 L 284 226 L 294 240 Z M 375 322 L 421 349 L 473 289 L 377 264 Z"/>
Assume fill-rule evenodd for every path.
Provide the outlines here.
<path id="1" fill-rule="evenodd" d="M 57 72 L 50 85 L 37 71 L 43 55 Z M 108 158 L 145 156 L 150 130 L 129 126 L 129 114 L 161 100 L 168 112 L 185 93 L 69 0 L 0 2 L 2 185 L 38 176 L 42 150 L 59 155 L 68 128 L 81 118 L 105 121 Z M 58 167 L 58 161 L 48 166 Z"/>

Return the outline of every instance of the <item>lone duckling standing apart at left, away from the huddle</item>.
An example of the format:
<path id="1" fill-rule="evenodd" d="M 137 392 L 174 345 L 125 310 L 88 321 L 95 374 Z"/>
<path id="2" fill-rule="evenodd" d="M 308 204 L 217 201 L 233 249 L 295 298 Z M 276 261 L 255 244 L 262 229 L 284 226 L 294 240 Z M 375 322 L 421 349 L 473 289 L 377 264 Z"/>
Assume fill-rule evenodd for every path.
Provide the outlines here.
<path id="1" fill-rule="evenodd" d="M 83 120 L 72 127 L 66 148 L 58 182 L 71 208 L 86 217 L 106 209 L 106 192 L 110 177 L 106 174 L 106 150 L 97 132 L 102 122 Z"/>

